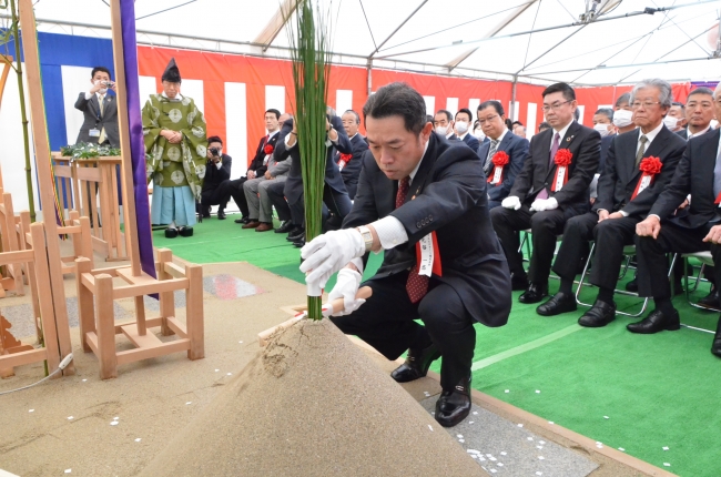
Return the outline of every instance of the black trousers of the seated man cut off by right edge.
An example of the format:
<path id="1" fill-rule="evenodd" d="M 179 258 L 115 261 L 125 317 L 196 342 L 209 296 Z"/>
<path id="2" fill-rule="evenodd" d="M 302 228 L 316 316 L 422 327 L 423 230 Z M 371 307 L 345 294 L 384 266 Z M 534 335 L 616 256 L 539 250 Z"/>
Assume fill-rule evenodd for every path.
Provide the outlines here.
<path id="1" fill-rule="evenodd" d="M 664 222 L 658 238 L 636 236 L 636 257 L 639 264 L 638 285 L 640 296 L 654 300 L 670 298 L 671 285 L 661 280 L 669 270 L 667 253 L 693 253 L 711 251 L 715 283 L 721 283 L 721 246 L 703 242 L 711 224 L 698 229 L 684 229 Z"/>

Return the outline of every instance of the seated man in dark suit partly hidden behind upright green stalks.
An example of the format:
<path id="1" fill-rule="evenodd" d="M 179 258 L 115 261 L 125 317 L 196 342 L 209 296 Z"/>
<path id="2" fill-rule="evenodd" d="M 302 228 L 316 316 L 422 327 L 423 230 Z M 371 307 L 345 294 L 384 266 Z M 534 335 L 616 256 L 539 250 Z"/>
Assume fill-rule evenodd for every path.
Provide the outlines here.
<path id="1" fill-rule="evenodd" d="M 344 154 L 352 154 L 353 146 L 345 133 L 341 118 L 335 114 L 335 110 L 331 106 L 327 108 L 326 131 L 328 141 L 333 148 L 327 149 L 325 158 L 325 189 L 323 190 L 323 204 L 325 205 L 323 215 L 328 216 L 328 212 L 333 213 L 337 220 L 343 219 L 351 212 L 351 199 L 348 192 L 343 183 L 341 171 L 335 162 L 333 162 L 333 151 L 339 151 Z M 301 229 L 296 234 L 288 235 L 288 240 L 293 237 L 293 245 L 301 247 L 305 244 L 305 202 L 303 197 L 303 175 L 301 173 L 301 152 L 296 148 L 297 143 L 297 125 L 293 119 L 283 123 L 281 130 L 278 146 L 275 152 L 275 158 L 278 161 L 291 156 L 291 170 L 288 177 L 285 181 L 284 194 L 291 207 L 293 222 L 301 224 Z"/>

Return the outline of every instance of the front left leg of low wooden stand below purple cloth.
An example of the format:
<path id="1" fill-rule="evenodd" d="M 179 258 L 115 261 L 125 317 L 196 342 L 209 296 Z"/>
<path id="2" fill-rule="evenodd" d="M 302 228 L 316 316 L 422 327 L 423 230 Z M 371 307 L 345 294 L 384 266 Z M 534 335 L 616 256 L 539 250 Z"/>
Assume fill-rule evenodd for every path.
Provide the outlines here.
<path id="1" fill-rule="evenodd" d="M 115 316 L 113 312 L 113 278 L 106 273 L 95 275 L 95 323 L 100 378 L 118 377 L 115 355 Z"/>

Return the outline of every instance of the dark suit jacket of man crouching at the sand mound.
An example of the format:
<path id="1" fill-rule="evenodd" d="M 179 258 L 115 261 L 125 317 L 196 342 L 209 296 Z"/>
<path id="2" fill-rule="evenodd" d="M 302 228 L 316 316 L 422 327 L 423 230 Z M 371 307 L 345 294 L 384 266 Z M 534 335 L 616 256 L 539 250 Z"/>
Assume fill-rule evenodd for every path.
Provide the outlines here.
<path id="1" fill-rule="evenodd" d="M 428 149 L 410 184 L 405 203 L 395 209 L 398 181 L 365 154 L 358 192 L 344 229 L 393 215 L 404 225 L 408 242 L 385 251 L 372 278 L 408 270 L 416 263 L 416 243 L 436 232 L 443 276 L 474 319 L 502 326 L 510 313 L 510 273 L 496 236 L 486 199 L 486 180 L 476 154 L 430 134 Z"/>

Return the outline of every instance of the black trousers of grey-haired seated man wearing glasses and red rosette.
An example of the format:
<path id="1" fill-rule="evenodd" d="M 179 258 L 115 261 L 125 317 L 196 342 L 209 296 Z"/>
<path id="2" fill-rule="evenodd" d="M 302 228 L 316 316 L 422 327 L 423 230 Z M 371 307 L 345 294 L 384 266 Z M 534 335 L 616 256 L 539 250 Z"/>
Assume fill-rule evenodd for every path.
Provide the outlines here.
<path id="1" fill-rule="evenodd" d="M 623 263 L 623 246 L 633 244 L 639 222 L 637 217 L 619 217 L 599 223 L 596 212 L 569 219 L 554 272 L 561 278 L 573 280 L 578 264 L 588 254 L 588 242 L 593 240 L 596 250 L 590 281 L 602 288 L 615 288 Z"/>

